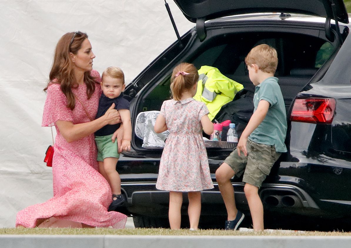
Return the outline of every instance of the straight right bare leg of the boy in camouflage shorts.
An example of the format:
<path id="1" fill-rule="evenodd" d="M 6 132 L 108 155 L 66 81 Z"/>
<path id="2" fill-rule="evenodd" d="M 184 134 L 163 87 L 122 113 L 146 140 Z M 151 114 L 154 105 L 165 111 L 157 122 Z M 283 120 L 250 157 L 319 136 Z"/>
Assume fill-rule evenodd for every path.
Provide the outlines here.
<path id="1" fill-rule="evenodd" d="M 249 203 L 253 229 L 255 231 L 264 230 L 263 225 L 263 205 L 258 195 L 258 187 L 246 183 L 244 187 L 245 196 Z"/>

